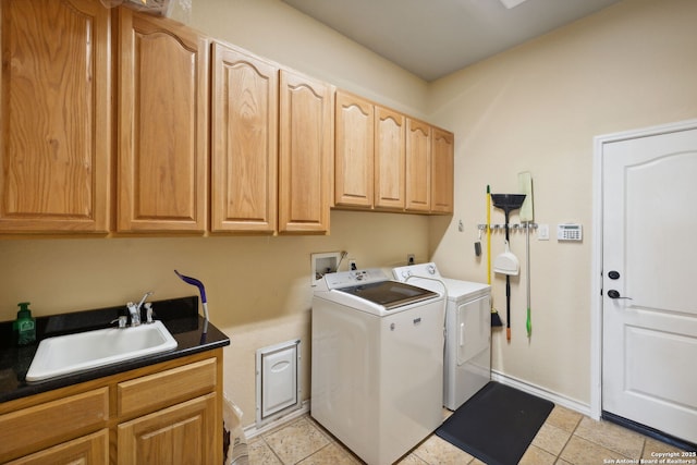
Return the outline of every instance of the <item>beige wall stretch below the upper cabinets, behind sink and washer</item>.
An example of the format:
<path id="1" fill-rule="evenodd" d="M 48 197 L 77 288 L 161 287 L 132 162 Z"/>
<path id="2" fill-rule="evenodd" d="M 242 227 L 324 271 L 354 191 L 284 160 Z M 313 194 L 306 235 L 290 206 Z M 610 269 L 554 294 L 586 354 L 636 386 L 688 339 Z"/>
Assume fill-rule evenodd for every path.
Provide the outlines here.
<path id="1" fill-rule="evenodd" d="M 426 217 L 332 211 L 331 221 L 328 236 L 0 240 L 0 320 L 14 319 L 25 301 L 46 316 L 117 306 L 146 291 L 151 299 L 196 295 L 178 269 L 204 282 L 210 319 L 231 339 L 224 389 L 249 425 L 258 348 L 301 338 L 309 397 L 311 253 L 347 250 L 362 267 L 403 265 L 407 253 L 428 258 Z"/>

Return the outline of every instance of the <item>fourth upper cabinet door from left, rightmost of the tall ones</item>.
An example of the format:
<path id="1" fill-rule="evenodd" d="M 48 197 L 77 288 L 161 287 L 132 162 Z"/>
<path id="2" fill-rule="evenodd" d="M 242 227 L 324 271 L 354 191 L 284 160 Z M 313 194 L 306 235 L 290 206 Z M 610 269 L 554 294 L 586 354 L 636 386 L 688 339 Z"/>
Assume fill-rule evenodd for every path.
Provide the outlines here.
<path id="1" fill-rule="evenodd" d="M 279 233 L 326 233 L 333 178 L 331 85 L 281 70 Z"/>

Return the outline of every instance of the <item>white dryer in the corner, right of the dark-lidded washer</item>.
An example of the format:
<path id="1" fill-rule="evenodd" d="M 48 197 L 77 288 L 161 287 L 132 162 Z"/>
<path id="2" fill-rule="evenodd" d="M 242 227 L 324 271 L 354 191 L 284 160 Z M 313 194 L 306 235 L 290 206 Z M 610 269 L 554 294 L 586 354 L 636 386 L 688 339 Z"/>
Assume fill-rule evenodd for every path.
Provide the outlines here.
<path id="1" fill-rule="evenodd" d="M 491 287 L 443 278 L 432 262 L 394 268 L 392 273 L 432 291 L 447 289 L 443 405 L 454 411 L 491 380 Z"/>

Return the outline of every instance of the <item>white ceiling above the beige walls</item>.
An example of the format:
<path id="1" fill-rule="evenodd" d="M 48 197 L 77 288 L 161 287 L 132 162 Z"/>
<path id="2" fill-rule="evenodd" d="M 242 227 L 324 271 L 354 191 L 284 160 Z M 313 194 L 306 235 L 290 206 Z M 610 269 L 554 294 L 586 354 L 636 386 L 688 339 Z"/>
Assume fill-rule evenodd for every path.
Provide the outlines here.
<path id="1" fill-rule="evenodd" d="M 283 0 L 430 82 L 619 0 Z"/>

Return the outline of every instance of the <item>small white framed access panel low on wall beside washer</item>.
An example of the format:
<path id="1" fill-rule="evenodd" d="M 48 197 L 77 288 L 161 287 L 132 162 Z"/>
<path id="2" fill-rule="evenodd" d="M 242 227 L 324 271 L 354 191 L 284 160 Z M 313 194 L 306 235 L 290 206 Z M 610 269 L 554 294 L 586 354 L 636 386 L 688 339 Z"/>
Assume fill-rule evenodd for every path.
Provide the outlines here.
<path id="1" fill-rule="evenodd" d="M 301 407 L 299 345 L 298 339 L 257 351 L 257 428 Z"/>

